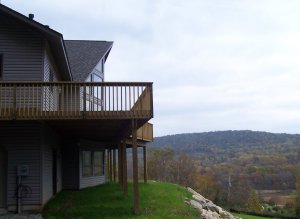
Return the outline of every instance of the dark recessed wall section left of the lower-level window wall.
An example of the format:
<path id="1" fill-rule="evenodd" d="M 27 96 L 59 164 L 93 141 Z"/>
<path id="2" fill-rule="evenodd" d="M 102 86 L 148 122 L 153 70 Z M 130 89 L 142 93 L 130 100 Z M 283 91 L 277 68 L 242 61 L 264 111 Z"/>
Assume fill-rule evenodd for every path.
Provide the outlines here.
<path id="1" fill-rule="evenodd" d="M 76 143 L 62 144 L 62 188 L 79 189 L 79 152 Z"/>

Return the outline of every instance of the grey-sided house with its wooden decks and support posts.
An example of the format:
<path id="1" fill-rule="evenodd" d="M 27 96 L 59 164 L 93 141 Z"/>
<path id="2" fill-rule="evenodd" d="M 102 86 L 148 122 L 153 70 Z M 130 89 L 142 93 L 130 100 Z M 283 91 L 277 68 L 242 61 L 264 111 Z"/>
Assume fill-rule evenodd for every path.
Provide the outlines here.
<path id="1" fill-rule="evenodd" d="M 2 4 L 0 21 L 0 209 L 39 210 L 61 190 L 117 178 L 127 193 L 132 148 L 138 213 L 137 147 L 146 181 L 152 83 L 104 82 L 112 42 L 64 40 Z"/>

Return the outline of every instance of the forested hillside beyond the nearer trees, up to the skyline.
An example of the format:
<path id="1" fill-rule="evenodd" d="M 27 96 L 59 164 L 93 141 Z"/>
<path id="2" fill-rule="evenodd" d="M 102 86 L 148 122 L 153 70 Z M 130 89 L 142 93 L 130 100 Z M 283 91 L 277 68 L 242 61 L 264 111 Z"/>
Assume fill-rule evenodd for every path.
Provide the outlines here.
<path id="1" fill-rule="evenodd" d="M 228 176 L 255 189 L 294 189 L 300 167 L 300 135 L 218 131 L 157 137 L 151 148 L 169 147 L 199 160 L 226 184 Z"/>

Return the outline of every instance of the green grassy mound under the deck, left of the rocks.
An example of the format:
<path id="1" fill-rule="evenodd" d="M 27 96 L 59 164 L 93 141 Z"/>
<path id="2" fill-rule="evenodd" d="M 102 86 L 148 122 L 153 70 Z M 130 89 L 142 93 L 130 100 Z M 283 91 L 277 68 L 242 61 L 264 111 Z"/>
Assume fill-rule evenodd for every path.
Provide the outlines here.
<path id="1" fill-rule="evenodd" d="M 50 200 L 45 219 L 58 218 L 199 218 L 199 213 L 184 203 L 191 194 L 184 188 L 161 182 L 140 183 L 141 214 L 133 214 L 132 183 L 128 196 L 117 184 L 105 184 L 80 191 L 63 191 Z"/>

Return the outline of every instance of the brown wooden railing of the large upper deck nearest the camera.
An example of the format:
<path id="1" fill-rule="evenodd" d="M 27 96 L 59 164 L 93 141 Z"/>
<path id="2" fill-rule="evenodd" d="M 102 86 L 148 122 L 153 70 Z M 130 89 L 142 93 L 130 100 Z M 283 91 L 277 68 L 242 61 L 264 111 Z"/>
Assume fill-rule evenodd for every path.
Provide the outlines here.
<path id="1" fill-rule="evenodd" d="M 152 116 L 152 83 L 0 82 L 0 120 Z"/>

